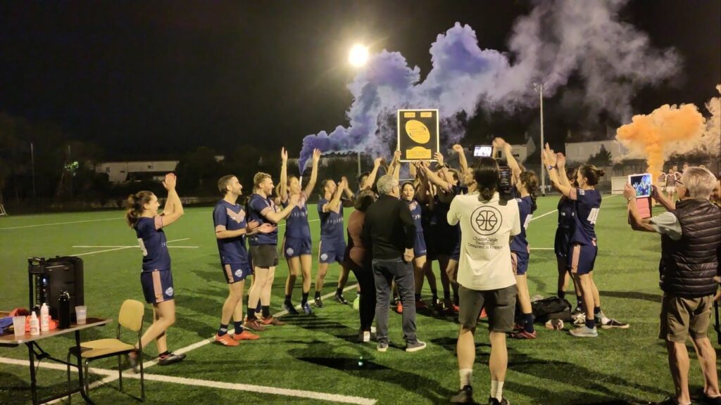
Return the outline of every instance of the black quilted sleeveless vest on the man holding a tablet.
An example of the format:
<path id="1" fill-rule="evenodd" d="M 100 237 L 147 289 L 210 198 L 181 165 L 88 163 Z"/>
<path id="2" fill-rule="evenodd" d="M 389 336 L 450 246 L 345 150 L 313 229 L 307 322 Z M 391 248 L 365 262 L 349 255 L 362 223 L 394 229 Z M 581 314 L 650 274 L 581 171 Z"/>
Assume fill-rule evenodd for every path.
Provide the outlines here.
<path id="1" fill-rule="evenodd" d="M 678 241 L 661 236 L 661 290 L 684 298 L 715 294 L 721 209 L 708 200 L 682 200 L 676 203 L 673 214 L 681 223 L 682 236 Z"/>

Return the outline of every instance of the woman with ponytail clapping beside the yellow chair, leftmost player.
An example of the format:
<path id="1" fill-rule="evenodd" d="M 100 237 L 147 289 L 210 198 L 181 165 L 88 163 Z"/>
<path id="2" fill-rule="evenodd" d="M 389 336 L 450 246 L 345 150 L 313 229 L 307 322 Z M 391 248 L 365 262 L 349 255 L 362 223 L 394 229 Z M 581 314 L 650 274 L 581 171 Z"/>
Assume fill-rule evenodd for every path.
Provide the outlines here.
<path id="1" fill-rule="evenodd" d="M 180 197 L 175 191 L 175 174 L 165 175 L 163 187 L 168 191 L 163 213 L 158 215 L 158 197 L 152 192 L 141 191 L 128 196 L 128 210 L 125 219 L 135 229 L 138 244 L 143 252 L 143 270 L 140 275 L 145 300 L 153 305 L 153 324 L 136 344 L 136 351 L 128 358 L 133 370 L 139 371 L 141 358 L 138 356 L 139 344 L 146 347 L 155 340 L 158 348 L 158 364 L 169 365 L 179 362 L 185 355 L 176 355 L 168 351 L 167 329 L 175 323 L 175 301 L 173 276 L 170 272 L 170 255 L 163 228 L 174 223 L 183 215 Z"/>

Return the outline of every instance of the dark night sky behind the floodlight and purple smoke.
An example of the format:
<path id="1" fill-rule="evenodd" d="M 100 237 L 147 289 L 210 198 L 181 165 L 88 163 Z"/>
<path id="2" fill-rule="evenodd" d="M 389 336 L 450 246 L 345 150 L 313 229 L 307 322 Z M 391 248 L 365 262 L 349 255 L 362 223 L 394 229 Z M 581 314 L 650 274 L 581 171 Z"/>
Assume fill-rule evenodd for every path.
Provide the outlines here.
<path id="1" fill-rule="evenodd" d="M 623 17 L 684 58 L 673 86 L 647 89 L 637 112 L 702 107 L 721 81 L 720 1 L 631 1 Z M 482 48 L 506 50 L 529 1 L 4 1 L 0 112 L 50 120 L 108 157 L 170 157 L 288 146 L 347 125 L 355 42 L 430 68 L 454 22 Z M 529 112 L 524 117 L 528 119 Z M 504 118 L 512 121 L 513 117 Z"/>

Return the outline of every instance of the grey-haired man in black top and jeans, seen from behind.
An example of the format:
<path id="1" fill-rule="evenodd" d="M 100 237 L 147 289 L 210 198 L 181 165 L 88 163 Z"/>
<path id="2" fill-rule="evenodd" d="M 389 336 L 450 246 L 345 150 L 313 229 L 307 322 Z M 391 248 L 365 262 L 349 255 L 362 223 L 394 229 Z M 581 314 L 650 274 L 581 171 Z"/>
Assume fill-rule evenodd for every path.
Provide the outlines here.
<path id="1" fill-rule="evenodd" d="M 396 281 L 403 304 L 403 335 L 406 352 L 425 349 L 425 343 L 415 336 L 415 286 L 413 242 L 415 224 L 408 205 L 399 200 L 398 180 L 386 174 L 378 180 L 381 195 L 366 210 L 363 221 L 363 244 L 371 246 L 373 277 L 376 279 L 376 325 L 378 351 L 388 349 L 388 303 L 391 284 Z"/>

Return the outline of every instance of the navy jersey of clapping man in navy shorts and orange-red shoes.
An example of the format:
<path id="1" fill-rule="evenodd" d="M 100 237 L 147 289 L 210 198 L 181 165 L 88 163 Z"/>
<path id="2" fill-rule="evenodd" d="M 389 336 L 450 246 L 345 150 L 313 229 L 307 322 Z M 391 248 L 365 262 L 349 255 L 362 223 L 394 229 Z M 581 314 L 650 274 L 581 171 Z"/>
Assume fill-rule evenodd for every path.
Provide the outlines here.
<path id="1" fill-rule="evenodd" d="M 220 200 L 213 209 L 213 226 L 216 232 L 237 231 L 245 229 L 247 220 L 245 208 L 240 204 L 231 204 Z M 217 239 L 218 253 L 221 264 L 244 264 L 248 262 L 248 251 L 245 249 L 245 235 L 234 238 Z"/>

